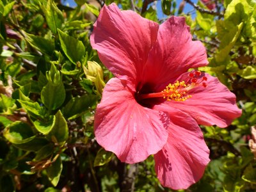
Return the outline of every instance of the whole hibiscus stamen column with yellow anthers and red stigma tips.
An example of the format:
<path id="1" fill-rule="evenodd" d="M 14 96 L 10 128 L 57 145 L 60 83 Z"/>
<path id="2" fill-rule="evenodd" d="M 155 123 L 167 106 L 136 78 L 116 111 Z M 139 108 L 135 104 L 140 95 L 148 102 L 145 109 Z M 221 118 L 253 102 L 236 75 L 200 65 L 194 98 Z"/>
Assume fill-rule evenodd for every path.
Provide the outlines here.
<path id="1" fill-rule="evenodd" d="M 189 95 L 189 90 L 197 87 L 204 86 L 207 87 L 205 81 L 207 81 L 207 77 L 201 76 L 200 71 L 191 72 L 188 74 L 189 79 L 185 83 L 185 81 L 176 81 L 175 83 L 170 83 L 162 92 L 158 93 L 147 93 L 138 95 L 138 100 L 142 99 L 150 99 L 155 97 L 163 97 L 166 100 L 175 100 L 175 101 L 185 101 L 192 97 Z"/>

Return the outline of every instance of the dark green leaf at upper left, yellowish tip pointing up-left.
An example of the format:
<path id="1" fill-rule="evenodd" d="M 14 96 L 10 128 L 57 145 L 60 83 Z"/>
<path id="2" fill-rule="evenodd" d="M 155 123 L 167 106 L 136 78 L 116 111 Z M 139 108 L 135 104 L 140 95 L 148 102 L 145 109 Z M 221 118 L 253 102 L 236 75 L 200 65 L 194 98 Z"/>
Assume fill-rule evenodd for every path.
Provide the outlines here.
<path id="1" fill-rule="evenodd" d="M 55 47 L 54 41 L 44 38 L 42 36 L 28 34 L 25 31 L 23 31 L 23 33 L 26 35 L 26 40 L 32 47 L 34 47 L 38 51 L 42 51 L 46 54 L 52 55 Z"/>

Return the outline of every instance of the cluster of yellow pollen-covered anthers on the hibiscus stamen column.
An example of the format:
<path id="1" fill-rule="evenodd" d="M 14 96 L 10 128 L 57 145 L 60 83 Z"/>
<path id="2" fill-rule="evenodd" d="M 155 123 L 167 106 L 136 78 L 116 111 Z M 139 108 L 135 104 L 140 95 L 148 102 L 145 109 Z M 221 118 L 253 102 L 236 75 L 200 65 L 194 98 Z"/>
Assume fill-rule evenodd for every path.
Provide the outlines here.
<path id="1" fill-rule="evenodd" d="M 170 83 L 162 91 L 163 98 L 166 100 L 185 101 L 192 97 L 192 95 L 187 95 L 189 90 L 188 86 L 190 86 L 190 84 L 185 84 L 184 81 L 176 81 L 173 84 Z"/>

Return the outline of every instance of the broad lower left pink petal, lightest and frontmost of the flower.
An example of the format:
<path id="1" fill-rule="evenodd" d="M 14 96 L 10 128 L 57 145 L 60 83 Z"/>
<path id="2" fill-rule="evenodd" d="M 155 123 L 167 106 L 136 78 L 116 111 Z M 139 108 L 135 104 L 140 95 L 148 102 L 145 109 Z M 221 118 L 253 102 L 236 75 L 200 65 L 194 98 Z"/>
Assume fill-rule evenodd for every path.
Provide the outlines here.
<path id="1" fill-rule="evenodd" d="M 125 163 L 138 163 L 156 154 L 166 143 L 166 113 L 136 102 L 126 81 L 112 78 L 97 106 L 94 131 L 97 142 Z"/>

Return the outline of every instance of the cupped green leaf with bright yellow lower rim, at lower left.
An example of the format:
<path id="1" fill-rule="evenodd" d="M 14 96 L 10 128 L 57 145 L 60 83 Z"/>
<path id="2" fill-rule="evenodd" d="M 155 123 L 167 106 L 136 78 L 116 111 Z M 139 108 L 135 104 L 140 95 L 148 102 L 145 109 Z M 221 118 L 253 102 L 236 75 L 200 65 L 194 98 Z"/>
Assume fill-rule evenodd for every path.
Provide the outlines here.
<path id="1" fill-rule="evenodd" d="M 55 116 L 47 120 L 35 120 L 33 123 L 37 131 L 42 132 L 42 134 L 48 134 L 55 124 Z"/>

